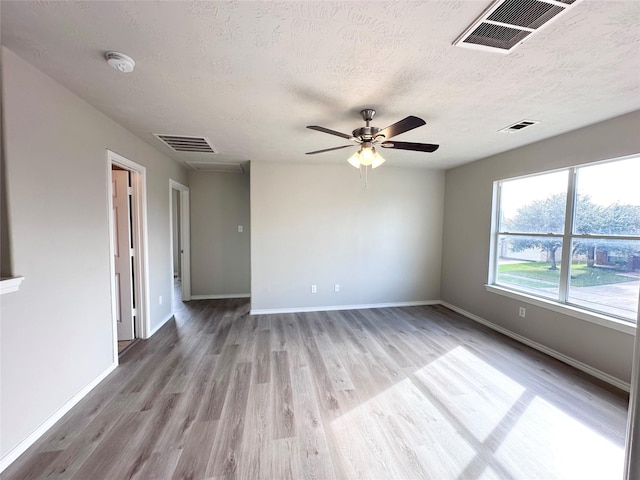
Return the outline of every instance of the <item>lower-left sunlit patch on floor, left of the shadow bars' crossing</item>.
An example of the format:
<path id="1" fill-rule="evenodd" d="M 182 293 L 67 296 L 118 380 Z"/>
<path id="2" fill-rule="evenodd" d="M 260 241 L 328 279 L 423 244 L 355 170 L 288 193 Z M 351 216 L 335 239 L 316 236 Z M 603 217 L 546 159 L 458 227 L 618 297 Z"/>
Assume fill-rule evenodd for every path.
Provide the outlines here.
<path id="1" fill-rule="evenodd" d="M 333 420 L 331 433 L 347 478 L 455 478 L 475 455 L 409 379 Z"/>

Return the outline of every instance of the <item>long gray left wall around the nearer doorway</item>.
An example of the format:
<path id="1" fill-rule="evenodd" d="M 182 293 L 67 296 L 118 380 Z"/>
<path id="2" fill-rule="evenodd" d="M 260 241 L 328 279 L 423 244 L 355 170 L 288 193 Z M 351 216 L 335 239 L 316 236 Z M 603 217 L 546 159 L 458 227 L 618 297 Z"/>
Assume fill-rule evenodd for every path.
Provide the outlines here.
<path id="1" fill-rule="evenodd" d="M 9 50 L 2 55 L 11 253 L 25 277 L 0 304 L 4 456 L 113 363 L 107 149 L 147 167 L 152 329 L 171 315 L 169 178 L 188 178 Z"/>

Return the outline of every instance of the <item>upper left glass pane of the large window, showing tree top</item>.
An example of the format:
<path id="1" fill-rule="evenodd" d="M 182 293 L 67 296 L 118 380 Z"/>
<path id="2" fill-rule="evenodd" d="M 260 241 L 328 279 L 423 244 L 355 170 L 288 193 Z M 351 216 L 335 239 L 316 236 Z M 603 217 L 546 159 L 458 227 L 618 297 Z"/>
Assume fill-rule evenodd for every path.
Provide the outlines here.
<path id="1" fill-rule="evenodd" d="M 563 233 L 568 170 L 500 184 L 501 232 Z"/>

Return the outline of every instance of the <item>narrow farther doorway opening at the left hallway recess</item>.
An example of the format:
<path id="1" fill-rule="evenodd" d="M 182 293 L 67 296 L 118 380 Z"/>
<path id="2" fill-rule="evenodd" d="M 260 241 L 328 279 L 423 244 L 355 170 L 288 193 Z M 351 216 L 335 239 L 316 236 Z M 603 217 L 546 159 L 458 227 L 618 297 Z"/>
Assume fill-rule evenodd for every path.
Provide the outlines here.
<path id="1" fill-rule="evenodd" d="M 191 300 L 191 243 L 189 221 L 189 187 L 169 180 L 170 245 L 173 282 L 171 305 L 175 313 L 176 301 Z M 176 298 L 178 297 L 178 298 Z"/>

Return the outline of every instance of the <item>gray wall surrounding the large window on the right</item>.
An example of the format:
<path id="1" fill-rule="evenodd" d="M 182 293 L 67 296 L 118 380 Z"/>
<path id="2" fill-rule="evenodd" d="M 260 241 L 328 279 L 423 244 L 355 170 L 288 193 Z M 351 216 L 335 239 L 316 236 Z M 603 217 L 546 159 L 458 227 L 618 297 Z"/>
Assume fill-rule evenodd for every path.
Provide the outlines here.
<path id="1" fill-rule="evenodd" d="M 442 299 L 628 382 L 633 336 L 485 290 L 493 182 L 640 152 L 640 112 L 566 133 L 446 173 Z M 514 134 L 516 135 L 516 134 Z"/>

